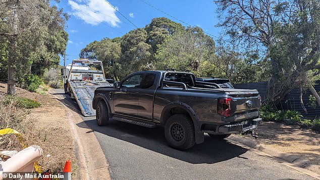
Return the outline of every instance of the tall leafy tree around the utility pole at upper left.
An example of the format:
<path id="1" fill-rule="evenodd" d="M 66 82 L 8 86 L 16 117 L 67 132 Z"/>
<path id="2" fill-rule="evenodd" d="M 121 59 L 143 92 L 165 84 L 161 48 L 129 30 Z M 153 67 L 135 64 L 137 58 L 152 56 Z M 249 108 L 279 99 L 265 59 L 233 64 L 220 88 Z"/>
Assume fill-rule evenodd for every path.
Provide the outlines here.
<path id="1" fill-rule="evenodd" d="M 8 93 L 13 94 L 17 77 L 41 75 L 44 68 L 59 64 L 58 53 L 68 40 L 67 16 L 49 1 L 5 1 L 0 7 L 0 38 L 8 43 Z"/>

